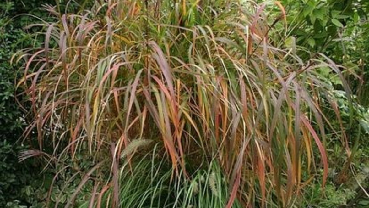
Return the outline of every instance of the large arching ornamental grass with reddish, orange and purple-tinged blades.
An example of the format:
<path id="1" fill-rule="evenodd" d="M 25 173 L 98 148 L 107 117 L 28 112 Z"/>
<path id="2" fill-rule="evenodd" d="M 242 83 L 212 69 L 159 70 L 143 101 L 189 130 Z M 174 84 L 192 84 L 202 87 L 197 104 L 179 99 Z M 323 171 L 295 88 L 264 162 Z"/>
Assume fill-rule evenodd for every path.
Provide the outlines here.
<path id="1" fill-rule="evenodd" d="M 76 193 L 110 164 L 103 187 L 113 187 L 116 205 L 119 156 L 144 138 L 161 144 L 173 178 L 199 168 L 186 163 L 193 155 L 204 167 L 215 158 L 229 184 L 226 207 L 293 204 L 303 173 L 322 167 L 323 186 L 328 175 L 319 102 L 327 85 L 314 71 L 327 67 L 350 91 L 328 57 L 305 62 L 294 41 L 273 40 L 286 13 L 272 6 L 272 15 L 252 1 L 111 0 L 77 14 L 46 6 L 54 21 L 43 24 L 44 45 L 18 57 L 28 60 L 18 87 L 34 117 L 25 136 L 36 132 L 40 150 L 52 144 L 53 158 L 94 158 Z"/>

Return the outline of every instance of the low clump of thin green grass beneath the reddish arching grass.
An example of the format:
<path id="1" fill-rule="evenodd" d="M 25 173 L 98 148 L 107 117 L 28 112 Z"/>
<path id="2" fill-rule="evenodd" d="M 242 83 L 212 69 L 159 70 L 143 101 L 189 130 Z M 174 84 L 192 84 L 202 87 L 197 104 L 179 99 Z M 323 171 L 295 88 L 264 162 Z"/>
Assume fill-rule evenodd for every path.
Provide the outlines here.
<path id="1" fill-rule="evenodd" d="M 132 144 L 132 143 L 131 143 Z M 137 161 L 138 160 L 138 161 Z M 158 146 L 144 157 L 135 158 L 132 168 L 124 160 L 119 177 L 119 207 L 225 207 L 228 202 L 228 184 L 216 161 L 208 170 L 199 170 L 190 178 L 171 180 L 171 167 L 159 156 Z M 95 204 L 114 207 L 114 188 L 107 185 L 80 208 Z M 233 207 L 241 207 L 236 200 Z"/>

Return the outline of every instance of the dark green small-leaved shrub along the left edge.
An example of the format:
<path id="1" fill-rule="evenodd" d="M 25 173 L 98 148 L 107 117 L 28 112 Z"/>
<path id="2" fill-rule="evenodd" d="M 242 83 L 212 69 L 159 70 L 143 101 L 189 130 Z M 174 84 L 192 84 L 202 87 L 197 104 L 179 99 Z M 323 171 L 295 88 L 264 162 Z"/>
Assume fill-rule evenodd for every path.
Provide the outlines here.
<path id="1" fill-rule="evenodd" d="M 27 2 L 40 5 L 36 0 Z M 20 3 L 11 0 L 0 2 L 0 207 L 14 200 L 18 200 L 15 204 L 30 205 L 32 200 L 29 197 L 34 195 L 27 195 L 25 187 L 42 177 L 38 175 L 41 169 L 35 160 L 18 163 L 18 153 L 29 148 L 28 145 L 23 146 L 21 138 L 27 126 L 27 112 L 21 110 L 15 99 L 15 84 L 21 75 L 19 68 L 22 64 L 11 65 L 10 60 L 15 52 L 32 45 L 30 35 L 22 28 L 24 23 L 31 23 L 32 18 L 15 17 L 25 11 L 18 5 Z M 17 99 L 23 98 L 18 96 Z"/>

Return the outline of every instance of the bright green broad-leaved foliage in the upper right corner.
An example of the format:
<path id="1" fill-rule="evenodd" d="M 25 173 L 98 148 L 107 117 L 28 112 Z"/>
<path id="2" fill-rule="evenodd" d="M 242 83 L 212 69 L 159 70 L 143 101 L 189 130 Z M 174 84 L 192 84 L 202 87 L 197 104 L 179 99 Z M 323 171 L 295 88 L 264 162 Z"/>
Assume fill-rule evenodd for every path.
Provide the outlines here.
<path id="1" fill-rule="evenodd" d="M 351 89 L 368 106 L 369 2 L 363 0 L 281 1 L 289 11 L 289 34 L 297 44 L 327 54 L 351 77 Z"/>

